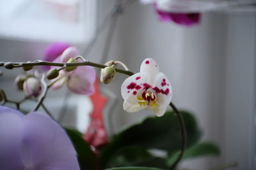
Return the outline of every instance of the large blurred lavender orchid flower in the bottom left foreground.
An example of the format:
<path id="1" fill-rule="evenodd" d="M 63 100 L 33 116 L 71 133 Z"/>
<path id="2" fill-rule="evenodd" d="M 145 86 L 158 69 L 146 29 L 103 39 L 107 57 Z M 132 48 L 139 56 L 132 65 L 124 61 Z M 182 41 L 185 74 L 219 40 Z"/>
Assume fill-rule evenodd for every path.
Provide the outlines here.
<path id="1" fill-rule="evenodd" d="M 0 106 L 0 169 L 79 169 L 63 129 L 41 113 L 23 115 Z"/>

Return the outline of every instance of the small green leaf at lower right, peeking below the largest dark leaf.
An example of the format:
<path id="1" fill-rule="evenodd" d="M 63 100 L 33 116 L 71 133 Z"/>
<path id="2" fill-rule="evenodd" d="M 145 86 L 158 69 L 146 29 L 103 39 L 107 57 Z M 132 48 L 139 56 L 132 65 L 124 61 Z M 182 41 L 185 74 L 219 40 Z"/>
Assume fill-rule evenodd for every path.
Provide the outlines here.
<path id="1" fill-rule="evenodd" d="M 177 157 L 179 157 L 179 153 L 180 152 L 173 153 L 168 157 L 167 164 L 169 166 L 172 165 L 175 162 L 175 160 L 177 160 Z M 186 149 L 182 157 L 182 160 L 193 159 L 196 157 L 219 156 L 219 155 L 220 155 L 220 148 L 218 148 L 218 146 L 214 145 L 213 143 L 205 142 L 205 143 L 196 144 Z"/>

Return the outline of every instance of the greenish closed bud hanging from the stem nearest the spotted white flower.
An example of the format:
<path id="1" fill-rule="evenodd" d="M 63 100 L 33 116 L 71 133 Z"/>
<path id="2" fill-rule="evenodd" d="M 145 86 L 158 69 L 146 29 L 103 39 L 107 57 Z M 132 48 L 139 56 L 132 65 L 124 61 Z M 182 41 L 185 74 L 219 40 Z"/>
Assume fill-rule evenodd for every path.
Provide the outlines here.
<path id="1" fill-rule="evenodd" d="M 102 83 L 108 84 L 110 83 L 113 78 L 116 76 L 116 70 L 115 67 L 105 67 L 104 69 L 100 70 L 100 81 Z"/>

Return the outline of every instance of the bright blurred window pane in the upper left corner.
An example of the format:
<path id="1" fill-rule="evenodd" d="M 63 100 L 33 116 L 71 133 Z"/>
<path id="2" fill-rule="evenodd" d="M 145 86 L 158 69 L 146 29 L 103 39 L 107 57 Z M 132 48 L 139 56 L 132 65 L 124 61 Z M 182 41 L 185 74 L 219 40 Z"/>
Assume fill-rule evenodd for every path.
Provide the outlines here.
<path id="1" fill-rule="evenodd" d="M 95 33 L 95 0 L 12 0 L 0 2 L 0 36 L 86 43 Z"/>

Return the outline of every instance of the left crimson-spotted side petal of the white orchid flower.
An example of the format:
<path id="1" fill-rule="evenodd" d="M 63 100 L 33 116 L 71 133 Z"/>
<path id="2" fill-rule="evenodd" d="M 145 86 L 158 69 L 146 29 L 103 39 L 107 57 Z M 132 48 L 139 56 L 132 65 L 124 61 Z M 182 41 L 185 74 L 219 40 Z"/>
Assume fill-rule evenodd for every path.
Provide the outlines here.
<path id="1" fill-rule="evenodd" d="M 143 85 L 148 85 L 148 74 L 147 73 L 136 73 L 132 76 L 129 76 L 121 86 L 121 94 L 122 97 L 126 100 L 127 97 L 132 94 L 142 90 L 144 87 Z"/>

